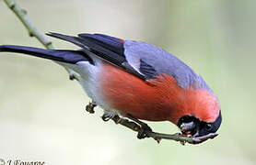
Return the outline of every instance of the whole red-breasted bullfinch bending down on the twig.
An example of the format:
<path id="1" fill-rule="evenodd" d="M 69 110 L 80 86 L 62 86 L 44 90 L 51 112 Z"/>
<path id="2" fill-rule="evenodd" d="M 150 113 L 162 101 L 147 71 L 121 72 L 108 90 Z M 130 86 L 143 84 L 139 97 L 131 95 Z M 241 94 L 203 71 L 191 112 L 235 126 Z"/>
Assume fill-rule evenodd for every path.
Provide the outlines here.
<path id="1" fill-rule="evenodd" d="M 57 61 L 74 71 L 94 103 L 104 109 L 103 119 L 128 117 L 151 130 L 139 119 L 170 121 L 184 135 L 215 133 L 221 125 L 219 101 L 192 69 L 164 49 L 145 42 L 103 34 L 47 34 L 81 49 L 38 49 L 2 45 L 0 51 L 24 53 Z M 140 133 L 140 137 L 144 137 Z"/>

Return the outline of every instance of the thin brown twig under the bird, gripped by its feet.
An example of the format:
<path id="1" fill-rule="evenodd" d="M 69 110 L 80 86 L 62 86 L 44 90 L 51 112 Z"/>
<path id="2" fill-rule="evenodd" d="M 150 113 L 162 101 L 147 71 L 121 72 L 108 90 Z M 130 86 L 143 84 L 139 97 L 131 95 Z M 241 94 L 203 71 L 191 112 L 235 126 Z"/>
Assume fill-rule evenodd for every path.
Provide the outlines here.
<path id="1" fill-rule="evenodd" d="M 116 124 L 121 124 L 122 126 L 126 126 L 136 132 L 138 132 L 140 130 L 140 126 L 137 125 L 136 123 L 129 121 L 127 119 L 123 119 L 121 117 L 119 117 L 118 115 L 115 115 L 114 117 L 111 118 Z M 205 140 L 209 139 L 209 138 L 214 138 L 216 137 L 218 134 L 216 133 L 210 133 L 204 137 L 184 137 L 179 133 L 176 134 L 161 134 L 161 133 L 157 133 L 157 132 L 146 132 L 146 136 L 147 137 L 152 137 L 155 140 L 157 140 L 157 142 L 159 143 L 160 140 L 162 138 L 165 139 L 171 139 L 171 140 L 175 140 L 175 141 L 180 141 L 181 144 L 185 144 L 185 142 L 188 142 L 190 144 L 199 144 L 204 142 Z"/>

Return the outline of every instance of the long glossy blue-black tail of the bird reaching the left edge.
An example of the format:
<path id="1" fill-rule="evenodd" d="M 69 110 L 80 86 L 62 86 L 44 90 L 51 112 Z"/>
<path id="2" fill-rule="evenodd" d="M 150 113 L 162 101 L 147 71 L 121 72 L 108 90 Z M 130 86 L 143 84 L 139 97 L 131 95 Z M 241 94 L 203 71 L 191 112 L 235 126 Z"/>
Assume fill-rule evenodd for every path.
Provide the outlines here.
<path id="1" fill-rule="evenodd" d="M 91 61 L 87 54 L 82 50 L 39 49 L 15 45 L 0 45 L 0 52 L 1 51 L 23 53 L 43 59 L 57 60 L 73 64 L 82 60 Z"/>

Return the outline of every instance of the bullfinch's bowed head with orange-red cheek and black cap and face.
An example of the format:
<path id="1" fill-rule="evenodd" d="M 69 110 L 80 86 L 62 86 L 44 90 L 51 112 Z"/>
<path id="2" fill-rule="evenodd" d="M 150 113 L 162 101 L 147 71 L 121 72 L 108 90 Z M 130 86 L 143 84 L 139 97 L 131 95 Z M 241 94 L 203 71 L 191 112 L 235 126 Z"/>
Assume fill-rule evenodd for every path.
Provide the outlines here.
<path id="1" fill-rule="evenodd" d="M 222 116 L 215 94 L 205 91 L 190 93 L 187 108 L 189 113 L 182 115 L 177 124 L 183 135 L 202 137 L 218 130 Z"/>

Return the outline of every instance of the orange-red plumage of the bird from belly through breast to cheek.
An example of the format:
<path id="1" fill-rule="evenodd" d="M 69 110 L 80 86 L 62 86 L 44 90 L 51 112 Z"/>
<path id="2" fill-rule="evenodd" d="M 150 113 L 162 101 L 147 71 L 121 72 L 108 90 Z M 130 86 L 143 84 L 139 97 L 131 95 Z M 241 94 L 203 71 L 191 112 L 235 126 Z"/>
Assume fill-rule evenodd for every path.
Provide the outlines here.
<path id="1" fill-rule="evenodd" d="M 100 93 L 104 101 L 123 115 L 131 114 L 149 121 L 169 120 L 177 124 L 183 115 L 195 115 L 206 122 L 213 122 L 219 114 L 219 104 L 213 93 L 183 89 L 168 74 L 145 82 L 104 63 L 100 78 Z"/>

